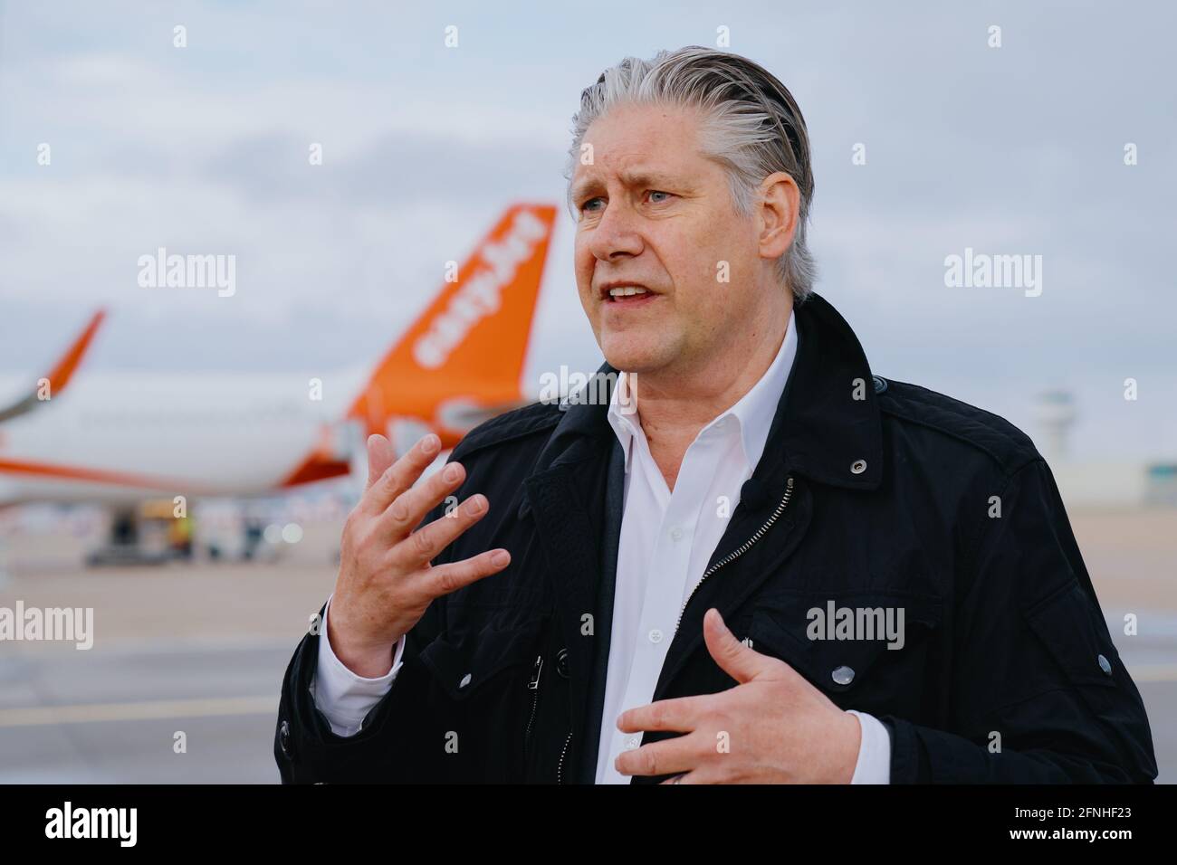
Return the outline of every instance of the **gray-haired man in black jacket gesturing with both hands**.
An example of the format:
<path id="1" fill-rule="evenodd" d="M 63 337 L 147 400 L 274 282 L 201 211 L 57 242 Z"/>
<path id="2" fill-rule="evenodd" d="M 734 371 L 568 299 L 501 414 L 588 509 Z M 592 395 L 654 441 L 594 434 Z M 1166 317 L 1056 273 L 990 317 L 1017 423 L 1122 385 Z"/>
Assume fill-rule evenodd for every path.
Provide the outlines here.
<path id="1" fill-rule="evenodd" d="M 607 404 L 496 418 L 420 484 L 435 437 L 370 439 L 282 780 L 1151 781 L 1030 439 L 872 375 L 812 292 L 785 87 L 631 58 L 571 157 Z"/>

